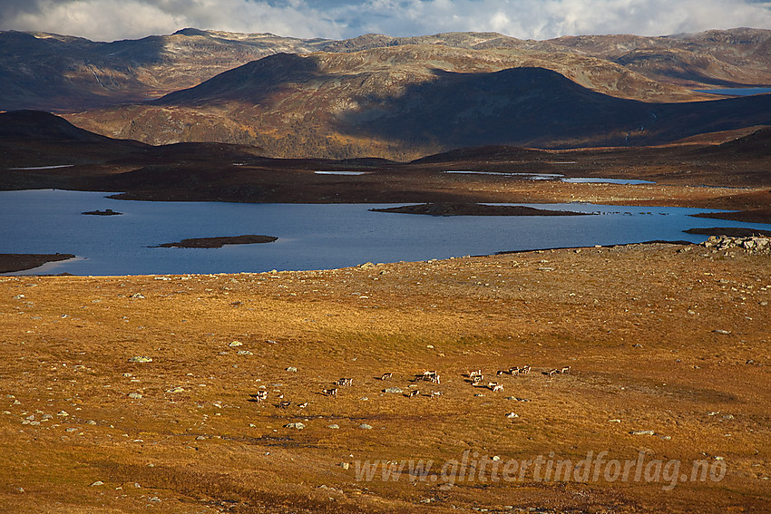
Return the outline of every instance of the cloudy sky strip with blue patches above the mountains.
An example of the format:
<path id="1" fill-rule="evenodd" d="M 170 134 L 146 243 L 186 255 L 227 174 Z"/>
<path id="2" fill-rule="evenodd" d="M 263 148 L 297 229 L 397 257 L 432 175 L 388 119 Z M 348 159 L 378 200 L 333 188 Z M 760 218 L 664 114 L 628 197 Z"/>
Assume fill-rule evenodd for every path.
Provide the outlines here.
<path id="1" fill-rule="evenodd" d="M 771 0 L 0 0 L 0 30 L 136 39 L 196 27 L 343 39 L 497 32 L 522 39 L 771 29 Z"/>

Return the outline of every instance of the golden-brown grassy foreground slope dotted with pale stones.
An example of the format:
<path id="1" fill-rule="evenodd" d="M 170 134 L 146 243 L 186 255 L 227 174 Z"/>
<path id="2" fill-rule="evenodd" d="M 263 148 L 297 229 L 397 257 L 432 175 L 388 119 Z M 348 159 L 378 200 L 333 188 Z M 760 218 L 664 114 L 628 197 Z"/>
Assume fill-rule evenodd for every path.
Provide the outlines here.
<path id="1" fill-rule="evenodd" d="M 0 504 L 766 511 L 769 266 L 740 249 L 635 245 L 235 276 L 0 278 Z M 531 373 L 495 376 L 524 364 Z M 475 369 L 503 393 L 473 387 Z M 412 382 L 425 370 L 441 384 Z M 320 393 L 340 377 L 353 385 Z M 415 398 L 383 393 L 411 384 Z M 250 396 L 260 386 L 266 402 Z M 356 461 L 441 467 L 464 451 L 488 470 L 495 456 L 642 451 L 681 472 L 698 460 L 727 473 L 674 490 L 602 476 L 356 480 Z"/>

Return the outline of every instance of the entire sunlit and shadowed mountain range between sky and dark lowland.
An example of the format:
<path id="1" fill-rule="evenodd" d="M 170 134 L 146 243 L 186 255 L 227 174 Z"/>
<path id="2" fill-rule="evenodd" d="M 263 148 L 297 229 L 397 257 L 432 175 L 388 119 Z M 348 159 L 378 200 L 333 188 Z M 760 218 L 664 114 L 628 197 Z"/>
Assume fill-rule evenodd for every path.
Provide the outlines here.
<path id="1" fill-rule="evenodd" d="M 765 84 L 771 31 L 757 29 L 548 41 L 0 33 L 0 109 L 59 112 L 113 138 L 237 143 L 274 157 L 659 144 L 771 124 L 771 95 L 695 91 Z"/>

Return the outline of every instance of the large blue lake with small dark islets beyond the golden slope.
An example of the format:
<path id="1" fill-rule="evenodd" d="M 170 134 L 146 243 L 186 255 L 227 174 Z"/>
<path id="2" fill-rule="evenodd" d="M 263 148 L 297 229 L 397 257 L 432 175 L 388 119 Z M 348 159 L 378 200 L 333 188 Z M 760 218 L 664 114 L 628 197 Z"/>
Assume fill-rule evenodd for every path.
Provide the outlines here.
<path id="1" fill-rule="evenodd" d="M 248 204 L 107 199 L 110 193 L 0 192 L 0 253 L 69 253 L 33 273 L 144 275 L 326 269 L 500 251 L 588 247 L 654 239 L 703 241 L 695 227 L 771 225 L 689 218 L 705 209 L 518 204 L 600 216 L 433 217 L 370 212 L 363 204 Z M 122 216 L 84 216 L 112 209 Z M 222 248 L 157 248 L 183 238 L 264 234 L 278 241 Z M 29 271 L 24 273 L 30 273 Z"/>

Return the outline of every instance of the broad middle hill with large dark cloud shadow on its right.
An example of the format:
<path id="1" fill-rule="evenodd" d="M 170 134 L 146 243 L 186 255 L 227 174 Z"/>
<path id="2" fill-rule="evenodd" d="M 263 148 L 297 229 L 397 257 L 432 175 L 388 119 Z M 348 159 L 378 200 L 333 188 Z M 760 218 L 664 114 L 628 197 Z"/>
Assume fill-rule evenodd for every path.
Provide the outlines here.
<path id="1" fill-rule="evenodd" d="M 384 46 L 271 55 L 151 104 L 69 119 L 91 131 L 152 144 L 222 141 L 258 145 L 278 157 L 395 160 L 487 144 L 657 144 L 771 124 L 771 95 L 639 102 L 618 98 L 624 81 L 649 96 L 669 97 L 676 89 L 608 62 L 563 56 L 561 71 L 575 77 L 583 64 L 593 75 L 582 80 L 593 87 L 530 65 L 542 63 L 532 54 Z M 615 91 L 610 77 L 618 81 Z"/>

